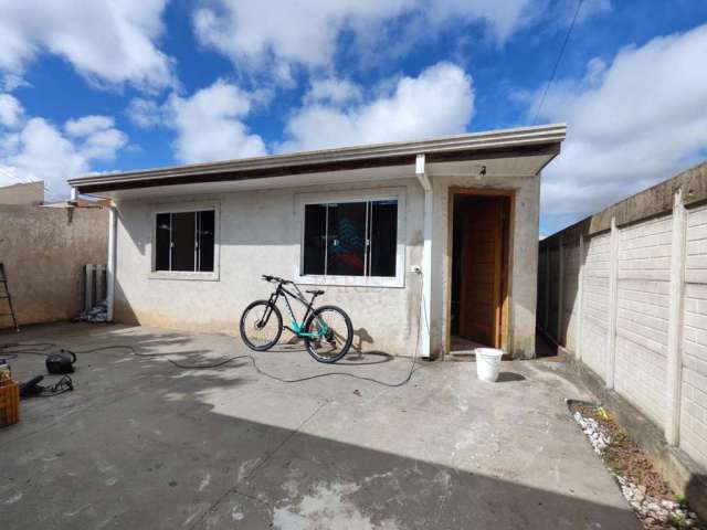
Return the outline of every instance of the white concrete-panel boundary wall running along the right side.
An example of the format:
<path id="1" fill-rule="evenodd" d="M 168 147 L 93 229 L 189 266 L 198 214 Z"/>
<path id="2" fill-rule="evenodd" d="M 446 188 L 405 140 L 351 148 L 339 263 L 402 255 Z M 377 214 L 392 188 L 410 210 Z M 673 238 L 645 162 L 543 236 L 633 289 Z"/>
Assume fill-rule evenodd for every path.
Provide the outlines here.
<path id="1" fill-rule="evenodd" d="M 707 182 L 707 166 L 693 171 Z M 573 226 L 545 240 L 540 262 L 561 244 L 572 278 L 540 275 L 542 292 L 548 282 L 563 282 L 566 318 L 559 329 L 544 318 L 539 324 L 707 469 L 707 205 L 683 206 L 683 192 L 675 192 L 672 211 L 632 220 L 613 233 Z M 645 201 L 636 198 L 625 208 L 640 209 Z M 602 215 L 594 219 L 602 222 Z M 552 300 L 541 297 L 539 314 L 548 306 Z"/>

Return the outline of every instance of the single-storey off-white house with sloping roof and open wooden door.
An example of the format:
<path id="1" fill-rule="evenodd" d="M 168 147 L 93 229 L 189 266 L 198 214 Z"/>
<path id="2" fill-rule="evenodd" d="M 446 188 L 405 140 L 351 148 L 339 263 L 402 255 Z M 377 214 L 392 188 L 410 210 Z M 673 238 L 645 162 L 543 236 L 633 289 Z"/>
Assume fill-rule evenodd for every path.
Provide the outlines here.
<path id="1" fill-rule="evenodd" d="M 535 356 L 540 171 L 564 125 L 70 180 L 112 199 L 108 311 L 238 333 L 268 274 L 321 286 L 356 348 Z"/>

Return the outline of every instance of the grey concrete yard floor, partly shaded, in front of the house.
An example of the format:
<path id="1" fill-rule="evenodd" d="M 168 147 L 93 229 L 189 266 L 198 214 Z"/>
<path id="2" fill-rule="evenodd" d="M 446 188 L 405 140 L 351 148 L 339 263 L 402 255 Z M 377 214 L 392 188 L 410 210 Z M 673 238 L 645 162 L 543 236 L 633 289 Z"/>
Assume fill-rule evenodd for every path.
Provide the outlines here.
<path id="1" fill-rule="evenodd" d="M 640 528 L 566 409 L 591 395 L 557 363 L 507 361 L 487 384 L 473 362 L 423 362 L 388 388 L 166 360 L 247 352 L 218 335 L 64 324 L 9 341 L 154 357 L 80 353 L 73 392 L 22 402 L 0 430 L 3 530 Z M 298 346 L 255 356 L 291 379 L 397 382 L 410 368 L 380 354 L 329 367 Z M 11 364 L 20 380 L 44 372 L 38 356 Z"/>

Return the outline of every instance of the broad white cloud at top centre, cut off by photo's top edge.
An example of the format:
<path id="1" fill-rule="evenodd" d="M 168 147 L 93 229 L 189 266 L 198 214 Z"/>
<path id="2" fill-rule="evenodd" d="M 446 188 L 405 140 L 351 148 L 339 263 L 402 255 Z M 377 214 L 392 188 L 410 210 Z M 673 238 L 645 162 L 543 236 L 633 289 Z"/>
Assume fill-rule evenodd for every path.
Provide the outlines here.
<path id="1" fill-rule="evenodd" d="M 530 0 L 204 0 L 194 13 L 199 40 L 239 67 L 279 72 L 331 68 L 342 34 L 377 53 L 388 24 L 415 28 L 405 38 L 436 34 L 460 20 L 484 22 L 499 42 L 523 25 Z M 399 45 L 400 43 L 395 43 Z"/>

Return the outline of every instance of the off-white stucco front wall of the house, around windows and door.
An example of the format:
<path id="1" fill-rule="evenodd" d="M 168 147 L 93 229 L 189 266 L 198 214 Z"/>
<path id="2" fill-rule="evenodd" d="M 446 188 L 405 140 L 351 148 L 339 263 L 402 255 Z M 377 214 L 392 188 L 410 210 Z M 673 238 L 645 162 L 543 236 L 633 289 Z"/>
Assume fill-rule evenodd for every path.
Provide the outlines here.
<path id="1" fill-rule="evenodd" d="M 486 179 L 484 187 L 516 191 L 510 255 L 510 335 L 514 352 L 535 352 L 535 307 L 538 241 L 538 179 Z M 478 179 L 433 177 L 434 226 L 432 269 L 432 350 L 446 347 L 449 305 L 447 200 L 451 186 L 479 187 Z M 298 189 L 240 191 L 118 201 L 116 307 L 117 321 L 173 329 L 238 333 L 247 304 L 266 298 L 272 286 L 261 274 L 295 278 L 300 230 L 298 194 L 373 189 L 404 190 L 404 284 L 402 287 L 323 286 L 318 304 L 334 304 L 351 317 L 355 346 L 411 356 L 418 339 L 421 278 L 409 273 L 422 262 L 423 192 L 415 178 Z M 166 203 L 219 204 L 220 264 L 218 280 L 157 279 L 151 277 L 154 212 Z"/>

